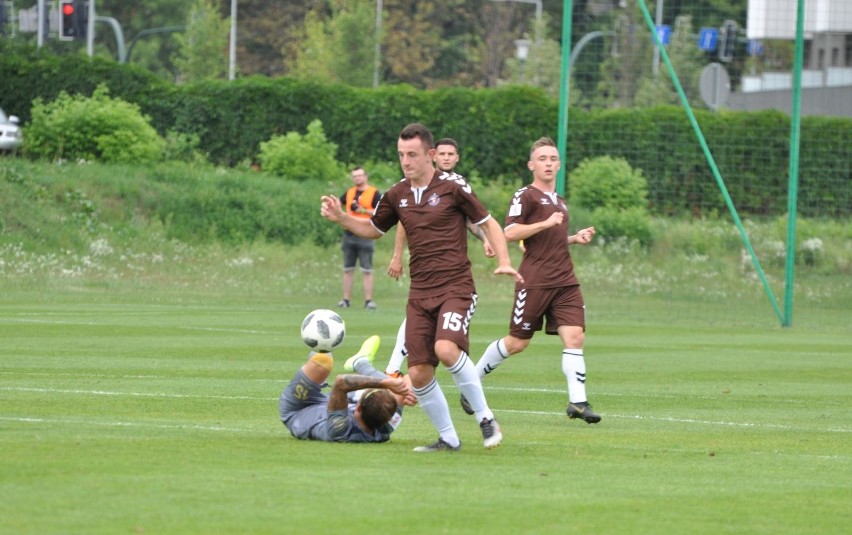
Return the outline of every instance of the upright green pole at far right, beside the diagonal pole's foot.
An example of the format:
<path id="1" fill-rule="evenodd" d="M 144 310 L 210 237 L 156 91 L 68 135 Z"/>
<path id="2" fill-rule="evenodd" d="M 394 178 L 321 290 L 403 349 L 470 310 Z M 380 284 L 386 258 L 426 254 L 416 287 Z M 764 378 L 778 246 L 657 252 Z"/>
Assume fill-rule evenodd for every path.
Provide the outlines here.
<path id="1" fill-rule="evenodd" d="M 799 124 L 802 104 L 802 63 L 804 57 L 805 0 L 798 1 L 796 14 L 796 57 L 793 67 L 793 110 L 790 114 L 790 170 L 787 187 L 787 262 L 784 283 L 783 327 L 793 324 L 793 274 L 796 270 L 796 206 L 799 196 Z"/>

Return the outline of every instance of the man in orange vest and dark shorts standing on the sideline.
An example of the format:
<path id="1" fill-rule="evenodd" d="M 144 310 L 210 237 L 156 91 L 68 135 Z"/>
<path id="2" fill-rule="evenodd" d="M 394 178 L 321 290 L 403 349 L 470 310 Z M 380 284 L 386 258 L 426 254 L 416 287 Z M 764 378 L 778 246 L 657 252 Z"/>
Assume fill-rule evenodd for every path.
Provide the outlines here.
<path id="1" fill-rule="evenodd" d="M 375 186 L 367 183 L 367 172 L 363 167 L 352 170 L 353 186 L 340 196 L 340 204 L 346 208 L 346 213 L 360 219 L 370 219 L 379 204 L 381 192 Z M 338 307 L 349 308 L 352 299 L 352 283 L 355 278 L 355 262 L 361 266 L 361 278 L 364 285 L 364 308 L 375 310 L 373 302 L 373 240 L 361 238 L 343 231 L 343 299 Z"/>

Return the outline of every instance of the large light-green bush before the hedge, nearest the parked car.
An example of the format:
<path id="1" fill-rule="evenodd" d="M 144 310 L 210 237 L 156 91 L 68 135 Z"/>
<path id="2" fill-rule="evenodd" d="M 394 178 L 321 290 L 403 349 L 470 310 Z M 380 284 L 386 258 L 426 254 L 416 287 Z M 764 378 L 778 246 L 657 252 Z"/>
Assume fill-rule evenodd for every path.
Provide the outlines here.
<path id="1" fill-rule="evenodd" d="M 165 147 L 139 107 L 110 98 L 106 86 L 91 97 L 63 92 L 49 104 L 36 99 L 24 139 L 27 154 L 48 159 L 147 163 Z"/>

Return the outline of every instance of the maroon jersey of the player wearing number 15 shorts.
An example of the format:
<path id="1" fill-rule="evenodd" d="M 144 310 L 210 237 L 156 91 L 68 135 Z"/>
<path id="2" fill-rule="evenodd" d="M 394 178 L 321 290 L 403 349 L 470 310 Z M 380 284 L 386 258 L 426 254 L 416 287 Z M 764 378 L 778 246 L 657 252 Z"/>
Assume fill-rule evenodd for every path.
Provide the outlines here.
<path id="1" fill-rule="evenodd" d="M 384 234 L 402 223 L 411 252 L 410 298 L 475 292 L 467 257 L 465 219 L 479 224 L 491 215 L 464 177 L 435 171 L 425 188 L 402 179 L 379 201 L 371 221 Z"/>

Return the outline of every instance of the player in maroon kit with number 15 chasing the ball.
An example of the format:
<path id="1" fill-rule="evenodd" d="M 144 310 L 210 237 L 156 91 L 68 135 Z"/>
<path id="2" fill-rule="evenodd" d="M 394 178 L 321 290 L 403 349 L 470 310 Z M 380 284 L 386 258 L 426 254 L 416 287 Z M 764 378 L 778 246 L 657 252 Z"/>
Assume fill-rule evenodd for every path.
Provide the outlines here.
<path id="1" fill-rule="evenodd" d="M 425 126 L 413 123 L 400 132 L 397 155 L 405 178 L 385 193 L 371 219 L 349 217 L 334 196 L 322 198 L 320 213 L 364 238 L 378 239 L 397 223 L 405 227 L 411 251 L 405 328 L 408 375 L 418 403 L 439 433 L 437 442 L 415 451 L 455 451 L 461 447 L 447 398 L 435 379 L 439 363 L 470 401 L 483 445 L 499 446 L 503 434 L 468 357 L 468 327 L 477 295 L 467 257 L 466 218 L 480 225 L 491 242 L 498 263 L 494 273 L 514 277 L 516 282 L 523 279 L 511 265 L 500 224 L 470 185 L 459 175 L 434 168 L 434 141 Z"/>

